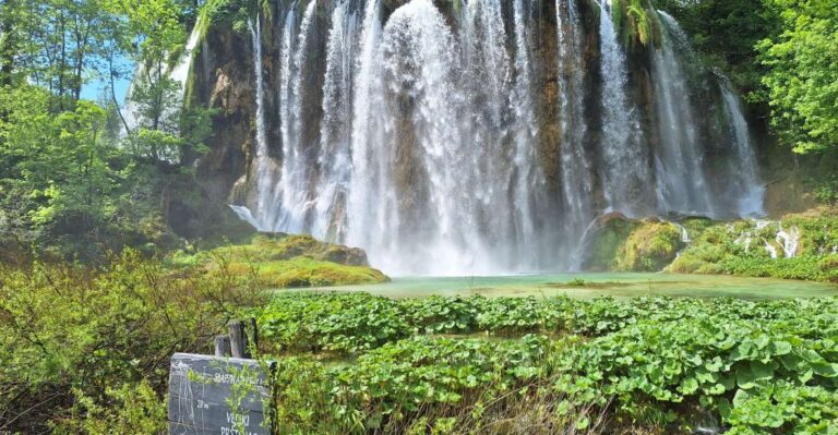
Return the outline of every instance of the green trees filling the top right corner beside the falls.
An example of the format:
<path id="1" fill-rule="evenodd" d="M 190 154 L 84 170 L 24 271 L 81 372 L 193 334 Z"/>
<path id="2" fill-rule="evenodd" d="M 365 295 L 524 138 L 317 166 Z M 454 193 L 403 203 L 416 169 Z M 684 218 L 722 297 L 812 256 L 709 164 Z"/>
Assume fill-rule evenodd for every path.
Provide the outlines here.
<path id="1" fill-rule="evenodd" d="M 728 73 L 750 96 L 753 111 L 769 116 L 785 145 L 798 153 L 835 153 L 838 10 L 834 1 L 658 0 L 656 4 L 679 19 L 705 62 Z"/>

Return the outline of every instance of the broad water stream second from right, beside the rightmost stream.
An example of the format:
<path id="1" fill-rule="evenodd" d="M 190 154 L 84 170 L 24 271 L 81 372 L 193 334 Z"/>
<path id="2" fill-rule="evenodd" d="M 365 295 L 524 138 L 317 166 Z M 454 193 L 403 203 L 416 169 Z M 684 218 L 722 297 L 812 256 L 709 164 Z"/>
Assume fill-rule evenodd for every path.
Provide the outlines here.
<path id="1" fill-rule="evenodd" d="M 666 12 L 661 48 L 653 52 L 655 105 L 661 140 L 655 157 L 657 193 L 662 212 L 715 216 L 703 168 L 704 158 L 696 131 L 684 62 L 679 56 L 689 49 L 683 31 Z M 678 47 L 677 47 L 678 46 Z"/>

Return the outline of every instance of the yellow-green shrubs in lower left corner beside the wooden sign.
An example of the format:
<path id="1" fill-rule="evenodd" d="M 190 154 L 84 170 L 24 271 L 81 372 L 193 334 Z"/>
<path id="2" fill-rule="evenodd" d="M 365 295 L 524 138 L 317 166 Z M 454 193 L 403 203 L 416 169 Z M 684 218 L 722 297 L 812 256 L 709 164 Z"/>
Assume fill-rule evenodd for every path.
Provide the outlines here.
<path id="1" fill-rule="evenodd" d="M 145 433 L 165 428 L 172 352 L 210 350 L 256 280 L 165 269 L 135 252 L 89 269 L 0 267 L 0 431 Z"/>

